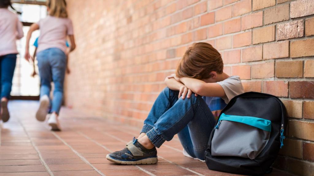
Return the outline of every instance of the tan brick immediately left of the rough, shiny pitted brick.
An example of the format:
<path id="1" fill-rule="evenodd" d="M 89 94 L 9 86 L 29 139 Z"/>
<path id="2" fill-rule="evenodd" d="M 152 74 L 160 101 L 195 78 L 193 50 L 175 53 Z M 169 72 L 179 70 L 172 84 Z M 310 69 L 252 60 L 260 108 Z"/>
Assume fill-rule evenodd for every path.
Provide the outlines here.
<path id="1" fill-rule="evenodd" d="M 275 26 L 253 29 L 253 44 L 271 42 L 275 40 Z"/>

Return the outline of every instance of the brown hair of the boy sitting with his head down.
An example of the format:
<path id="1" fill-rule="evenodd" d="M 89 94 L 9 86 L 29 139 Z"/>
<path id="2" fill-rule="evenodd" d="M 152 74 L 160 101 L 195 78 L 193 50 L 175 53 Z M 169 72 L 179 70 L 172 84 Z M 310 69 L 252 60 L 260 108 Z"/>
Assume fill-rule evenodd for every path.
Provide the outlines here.
<path id="1" fill-rule="evenodd" d="M 224 63 L 220 53 L 211 44 L 194 43 L 187 49 L 176 68 L 176 76 L 207 79 L 211 71 L 223 72 Z"/>

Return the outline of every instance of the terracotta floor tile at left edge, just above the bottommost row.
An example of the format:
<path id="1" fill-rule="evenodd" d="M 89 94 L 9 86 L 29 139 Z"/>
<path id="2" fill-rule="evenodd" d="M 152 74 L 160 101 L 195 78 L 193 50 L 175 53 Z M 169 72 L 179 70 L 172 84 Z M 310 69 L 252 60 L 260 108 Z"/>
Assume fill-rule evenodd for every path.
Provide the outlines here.
<path id="1" fill-rule="evenodd" d="M 43 165 L 27 166 L 0 166 L 0 172 L 43 172 L 46 168 Z"/>

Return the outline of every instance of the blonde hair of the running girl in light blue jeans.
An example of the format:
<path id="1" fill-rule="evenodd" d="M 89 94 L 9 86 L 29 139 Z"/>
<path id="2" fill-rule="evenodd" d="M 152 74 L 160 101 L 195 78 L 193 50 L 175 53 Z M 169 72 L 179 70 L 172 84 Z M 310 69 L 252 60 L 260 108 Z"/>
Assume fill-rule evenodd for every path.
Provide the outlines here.
<path id="1" fill-rule="evenodd" d="M 48 0 L 47 7 L 49 8 L 48 14 L 58 18 L 68 18 L 67 3 L 65 0 Z"/>

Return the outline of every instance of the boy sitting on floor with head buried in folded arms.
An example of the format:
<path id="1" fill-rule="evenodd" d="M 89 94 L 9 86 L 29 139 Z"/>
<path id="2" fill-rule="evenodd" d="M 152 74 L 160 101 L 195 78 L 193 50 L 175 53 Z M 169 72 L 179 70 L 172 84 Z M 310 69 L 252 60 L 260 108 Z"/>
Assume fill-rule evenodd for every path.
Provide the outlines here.
<path id="1" fill-rule="evenodd" d="M 157 163 L 157 150 L 178 134 L 183 154 L 204 160 L 216 114 L 235 96 L 243 93 L 239 76 L 223 72 L 223 61 L 212 45 L 204 42 L 187 49 L 176 75 L 165 79 L 137 139 L 106 158 L 119 164 Z"/>

